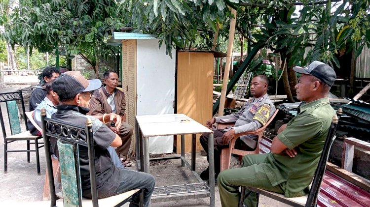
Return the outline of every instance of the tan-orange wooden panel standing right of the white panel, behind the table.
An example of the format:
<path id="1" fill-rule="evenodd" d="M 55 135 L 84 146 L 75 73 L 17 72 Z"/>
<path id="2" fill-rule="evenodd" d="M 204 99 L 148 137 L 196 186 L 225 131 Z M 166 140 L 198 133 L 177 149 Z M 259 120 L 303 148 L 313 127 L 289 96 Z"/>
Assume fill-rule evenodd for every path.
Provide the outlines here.
<path id="1" fill-rule="evenodd" d="M 177 113 L 205 124 L 212 118 L 213 54 L 178 52 L 177 65 Z M 196 138 L 196 151 L 202 148 Z M 177 139 L 177 152 L 181 139 Z M 185 135 L 185 152 L 191 150 L 191 135 Z"/>

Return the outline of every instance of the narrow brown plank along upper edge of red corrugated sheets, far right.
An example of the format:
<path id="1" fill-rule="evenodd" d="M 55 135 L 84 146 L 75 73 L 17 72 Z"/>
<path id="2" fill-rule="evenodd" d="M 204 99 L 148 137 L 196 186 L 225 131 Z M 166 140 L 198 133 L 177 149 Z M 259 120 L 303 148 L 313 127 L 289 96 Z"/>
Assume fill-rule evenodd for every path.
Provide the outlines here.
<path id="1" fill-rule="evenodd" d="M 348 180 L 349 182 L 359 186 L 360 188 L 370 192 L 370 180 L 358 176 L 354 173 L 348 172 L 330 162 L 326 165 L 327 170 L 333 172 L 335 175 L 339 177 L 343 177 L 343 179 Z"/>

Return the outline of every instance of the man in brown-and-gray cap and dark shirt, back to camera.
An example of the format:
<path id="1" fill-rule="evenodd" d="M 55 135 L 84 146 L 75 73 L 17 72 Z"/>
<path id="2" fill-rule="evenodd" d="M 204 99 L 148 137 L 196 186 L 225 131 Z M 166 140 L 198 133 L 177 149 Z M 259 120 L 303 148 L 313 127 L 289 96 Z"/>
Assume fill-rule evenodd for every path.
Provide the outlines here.
<path id="1" fill-rule="evenodd" d="M 154 190 L 154 177 L 147 173 L 117 168 L 111 161 L 107 148 L 122 145 L 121 138 L 102 123 L 103 116 L 94 118 L 87 116 L 89 112 L 90 91 L 99 89 L 101 81 L 86 80 L 78 71 L 69 71 L 61 75 L 52 84 L 52 89 L 59 95 L 58 111 L 51 118 L 76 125 L 85 126 L 87 118 L 92 121 L 95 142 L 96 179 L 99 198 L 113 196 L 133 189 L 144 189 L 144 206 L 148 207 Z M 105 122 L 115 122 L 119 128 L 121 119 L 118 115 L 105 116 Z M 87 148 L 79 148 L 80 176 L 82 196 L 91 198 L 90 173 L 88 167 Z M 139 201 L 139 196 L 134 198 Z M 130 206 L 135 204 L 130 203 Z"/>

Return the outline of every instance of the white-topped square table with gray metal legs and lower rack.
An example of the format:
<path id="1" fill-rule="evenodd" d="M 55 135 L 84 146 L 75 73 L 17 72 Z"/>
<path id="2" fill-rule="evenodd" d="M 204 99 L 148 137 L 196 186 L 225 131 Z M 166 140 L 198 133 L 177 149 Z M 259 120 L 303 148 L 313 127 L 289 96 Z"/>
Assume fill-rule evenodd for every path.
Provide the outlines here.
<path id="1" fill-rule="evenodd" d="M 156 189 L 152 195 L 152 202 L 170 201 L 176 199 L 189 199 L 210 197 L 210 206 L 215 206 L 215 165 L 214 165 L 214 145 L 213 131 L 185 116 L 184 114 L 164 114 L 164 115 L 143 115 L 136 116 L 136 164 L 139 171 L 149 173 L 149 146 L 148 138 L 165 135 L 181 135 L 181 156 L 152 158 L 150 160 L 165 160 L 165 159 L 181 159 L 181 165 L 185 165 L 191 170 L 195 177 L 201 183 L 174 185 L 156 187 L 157 192 L 163 188 L 163 195 L 155 196 Z M 206 183 L 195 172 L 195 155 L 196 155 L 196 134 L 209 133 L 208 141 L 208 156 L 209 156 L 209 190 L 207 194 L 199 194 L 199 190 Z M 185 159 L 185 134 L 191 134 L 191 165 Z M 199 186 L 198 186 L 199 184 Z M 203 185 L 203 186 L 200 186 Z M 206 186 L 208 188 L 208 186 Z M 175 189 L 176 192 L 171 193 L 169 189 Z M 180 190 L 179 190 L 180 189 Z M 181 191 L 181 189 L 184 189 Z M 185 192 L 187 191 L 187 192 Z M 181 193 L 183 192 L 183 193 Z M 203 191 L 202 191 L 203 192 Z M 197 194 L 198 193 L 198 194 Z"/>

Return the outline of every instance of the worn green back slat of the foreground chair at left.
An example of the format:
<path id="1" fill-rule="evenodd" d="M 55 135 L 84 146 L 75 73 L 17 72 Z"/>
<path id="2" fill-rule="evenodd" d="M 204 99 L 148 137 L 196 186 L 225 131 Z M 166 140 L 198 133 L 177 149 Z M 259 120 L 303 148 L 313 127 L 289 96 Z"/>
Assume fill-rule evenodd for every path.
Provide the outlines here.
<path id="1" fill-rule="evenodd" d="M 71 144 L 64 144 L 58 140 L 58 149 L 64 207 L 78 207 L 79 200 L 74 146 Z"/>

